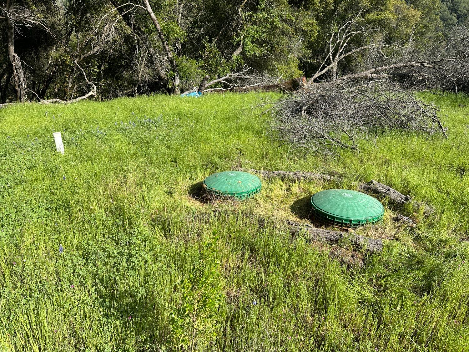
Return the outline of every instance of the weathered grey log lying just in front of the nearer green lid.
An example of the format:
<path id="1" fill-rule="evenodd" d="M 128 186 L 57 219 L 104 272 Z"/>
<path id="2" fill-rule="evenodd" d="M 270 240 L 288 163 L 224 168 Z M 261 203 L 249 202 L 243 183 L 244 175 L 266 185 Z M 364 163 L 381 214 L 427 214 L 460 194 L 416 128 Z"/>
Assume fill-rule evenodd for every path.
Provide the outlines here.
<path id="1" fill-rule="evenodd" d="M 342 238 L 347 238 L 356 247 L 365 250 L 365 252 L 375 253 L 383 251 L 383 241 L 379 239 L 355 235 L 346 231 L 318 229 L 309 224 L 299 224 L 293 221 L 288 221 L 288 225 L 290 233 L 293 235 L 306 232 L 311 239 L 327 242 L 338 242 Z"/>

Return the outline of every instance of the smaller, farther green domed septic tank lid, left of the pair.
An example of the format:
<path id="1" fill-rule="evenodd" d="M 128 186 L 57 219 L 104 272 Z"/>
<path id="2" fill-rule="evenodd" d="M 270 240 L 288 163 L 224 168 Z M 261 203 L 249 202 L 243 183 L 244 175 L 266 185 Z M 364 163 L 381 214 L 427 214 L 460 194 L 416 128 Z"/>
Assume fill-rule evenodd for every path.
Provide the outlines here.
<path id="1" fill-rule="evenodd" d="M 261 180 L 247 172 L 223 171 L 208 176 L 204 187 L 215 194 L 246 199 L 261 190 Z"/>

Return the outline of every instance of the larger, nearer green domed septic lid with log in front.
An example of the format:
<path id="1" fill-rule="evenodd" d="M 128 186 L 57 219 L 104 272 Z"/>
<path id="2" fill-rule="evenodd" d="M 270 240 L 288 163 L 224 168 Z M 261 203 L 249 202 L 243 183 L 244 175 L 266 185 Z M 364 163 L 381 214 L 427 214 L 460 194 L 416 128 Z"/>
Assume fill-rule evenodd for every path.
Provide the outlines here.
<path id="1" fill-rule="evenodd" d="M 350 190 L 325 190 L 311 197 L 313 220 L 327 225 L 357 227 L 382 219 L 384 207 L 373 197 Z"/>

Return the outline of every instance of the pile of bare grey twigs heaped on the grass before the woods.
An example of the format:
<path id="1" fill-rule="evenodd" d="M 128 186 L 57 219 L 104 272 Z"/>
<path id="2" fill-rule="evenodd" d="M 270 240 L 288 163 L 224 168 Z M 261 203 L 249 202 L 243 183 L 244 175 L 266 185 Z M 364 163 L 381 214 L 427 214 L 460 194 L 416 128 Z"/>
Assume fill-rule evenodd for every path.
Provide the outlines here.
<path id="1" fill-rule="evenodd" d="M 388 81 L 356 86 L 335 81 L 282 100 L 272 129 L 295 147 L 335 155 L 340 148 L 358 150 L 360 141 L 374 143 L 384 130 L 439 131 L 446 137 L 437 111 Z"/>

